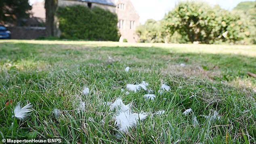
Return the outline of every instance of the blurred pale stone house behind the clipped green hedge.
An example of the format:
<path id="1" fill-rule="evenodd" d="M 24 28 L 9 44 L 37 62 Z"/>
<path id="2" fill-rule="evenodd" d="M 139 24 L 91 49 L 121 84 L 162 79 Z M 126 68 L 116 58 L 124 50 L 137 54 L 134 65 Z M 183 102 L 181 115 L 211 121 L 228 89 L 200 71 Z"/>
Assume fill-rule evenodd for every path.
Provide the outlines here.
<path id="1" fill-rule="evenodd" d="M 136 27 L 139 25 L 139 15 L 130 0 L 59 0 L 59 6 L 84 5 L 89 8 L 98 6 L 118 15 L 118 28 L 120 30 L 120 42 L 126 39 L 128 42 L 136 42 Z M 32 5 L 34 17 L 45 19 L 44 2 Z"/>

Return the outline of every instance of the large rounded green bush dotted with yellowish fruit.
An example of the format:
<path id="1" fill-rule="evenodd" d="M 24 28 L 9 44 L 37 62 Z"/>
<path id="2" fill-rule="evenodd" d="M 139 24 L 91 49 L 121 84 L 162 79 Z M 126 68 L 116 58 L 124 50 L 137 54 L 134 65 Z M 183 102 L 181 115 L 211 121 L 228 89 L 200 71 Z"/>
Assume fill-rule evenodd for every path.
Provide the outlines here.
<path id="1" fill-rule="evenodd" d="M 166 30 L 187 36 L 190 42 L 236 42 L 249 36 L 239 16 L 200 2 L 180 2 L 166 17 Z"/>

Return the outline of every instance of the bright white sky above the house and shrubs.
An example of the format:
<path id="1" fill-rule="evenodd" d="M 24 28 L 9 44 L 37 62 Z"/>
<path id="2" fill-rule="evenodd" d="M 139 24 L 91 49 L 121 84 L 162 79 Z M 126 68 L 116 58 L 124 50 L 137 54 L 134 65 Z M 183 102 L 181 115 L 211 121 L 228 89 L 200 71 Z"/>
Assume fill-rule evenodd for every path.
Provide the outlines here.
<path id="1" fill-rule="evenodd" d="M 36 1 L 43 0 L 29 0 L 30 4 Z M 144 24 L 147 19 L 161 20 L 164 15 L 172 10 L 180 0 L 131 0 L 138 14 L 140 15 L 140 23 Z M 196 1 L 196 0 L 195 0 Z M 254 0 L 200 0 L 208 2 L 210 6 L 216 4 L 220 5 L 221 8 L 226 10 L 232 10 L 237 4 L 244 1 Z"/>

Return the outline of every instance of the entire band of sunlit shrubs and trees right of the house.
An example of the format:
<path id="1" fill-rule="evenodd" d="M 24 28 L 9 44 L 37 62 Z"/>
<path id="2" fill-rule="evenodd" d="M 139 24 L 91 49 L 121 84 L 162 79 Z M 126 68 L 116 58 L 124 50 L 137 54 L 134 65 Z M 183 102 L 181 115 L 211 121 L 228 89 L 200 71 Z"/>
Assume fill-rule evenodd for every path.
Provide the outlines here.
<path id="1" fill-rule="evenodd" d="M 164 19 L 138 27 L 140 42 L 256 44 L 256 1 L 232 11 L 204 2 L 178 3 Z"/>

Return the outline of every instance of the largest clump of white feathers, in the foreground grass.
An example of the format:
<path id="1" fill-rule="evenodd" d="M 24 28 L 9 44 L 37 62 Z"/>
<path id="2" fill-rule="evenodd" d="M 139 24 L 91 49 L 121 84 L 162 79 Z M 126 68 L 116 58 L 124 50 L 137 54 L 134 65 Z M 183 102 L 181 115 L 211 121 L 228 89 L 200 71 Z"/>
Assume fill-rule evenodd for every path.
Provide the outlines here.
<path id="1" fill-rule="evenodd" d="M 116 110 L 113 119 L 118 129 L 124 133 L 128 132 L 130 127 L 137 124 L 138 120 L 146 119 L 146 113 L 133 113 L 130 104 L 125 105 L 122 99 L 118 98 L 115 102 L 109 104 L 110 110 Z"/>

